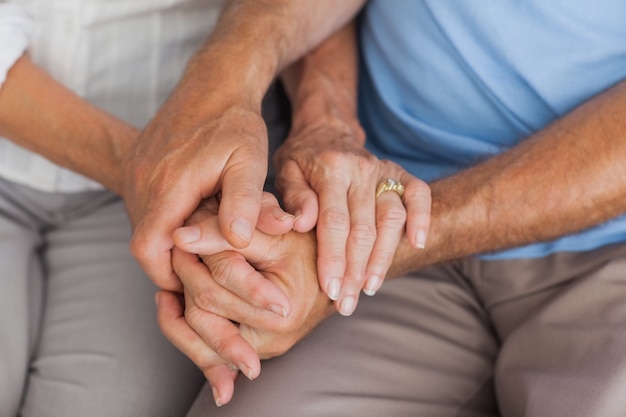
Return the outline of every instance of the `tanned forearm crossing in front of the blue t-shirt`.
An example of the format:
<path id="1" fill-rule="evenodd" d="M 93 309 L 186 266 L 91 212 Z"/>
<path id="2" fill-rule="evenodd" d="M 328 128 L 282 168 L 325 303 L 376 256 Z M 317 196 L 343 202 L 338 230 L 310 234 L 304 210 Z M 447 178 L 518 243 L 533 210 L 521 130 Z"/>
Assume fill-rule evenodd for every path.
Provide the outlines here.
<path id="1" fill-rule="evenodd" d="M 626 211 L 626 81 L 517 147 L 431 184 L 426 250 L 404 242 L 389 276 L 548 241 Z"/>

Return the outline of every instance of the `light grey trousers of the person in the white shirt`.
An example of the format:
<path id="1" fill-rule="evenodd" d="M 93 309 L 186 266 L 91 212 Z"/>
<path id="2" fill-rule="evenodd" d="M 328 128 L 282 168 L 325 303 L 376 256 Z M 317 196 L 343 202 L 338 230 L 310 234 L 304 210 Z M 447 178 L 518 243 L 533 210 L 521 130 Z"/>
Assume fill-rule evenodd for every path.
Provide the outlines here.
<path id="1" fill-rule="evenodd" d="M 171 417 L 204 380 L 161 335 L 108 192 L 0 180 L 0 416 Z"/>

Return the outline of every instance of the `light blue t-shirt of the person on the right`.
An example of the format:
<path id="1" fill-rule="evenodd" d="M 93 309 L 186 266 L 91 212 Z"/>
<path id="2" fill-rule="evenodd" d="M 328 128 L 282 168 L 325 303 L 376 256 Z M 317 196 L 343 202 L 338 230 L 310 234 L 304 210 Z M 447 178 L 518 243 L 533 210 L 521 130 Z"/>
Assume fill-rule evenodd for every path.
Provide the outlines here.
<path id="1" fill-rule="evenodd" d="M 371 0 L 360 30 L 367 146 L 426 181 L 514 146 L 626 79 L 625 0 Z M 626 216 L 485 257 L 623 241 Z"/>

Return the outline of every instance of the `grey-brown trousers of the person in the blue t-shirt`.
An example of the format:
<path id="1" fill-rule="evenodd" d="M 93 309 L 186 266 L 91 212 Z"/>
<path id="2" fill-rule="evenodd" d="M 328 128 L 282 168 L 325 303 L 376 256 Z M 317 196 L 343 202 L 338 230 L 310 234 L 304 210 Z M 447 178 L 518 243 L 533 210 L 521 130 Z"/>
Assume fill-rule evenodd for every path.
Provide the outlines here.
<path id="1" fill-rule="evenodd" d="M 624 417 L 626 245 L 386 282 L 189 416 Z"/>

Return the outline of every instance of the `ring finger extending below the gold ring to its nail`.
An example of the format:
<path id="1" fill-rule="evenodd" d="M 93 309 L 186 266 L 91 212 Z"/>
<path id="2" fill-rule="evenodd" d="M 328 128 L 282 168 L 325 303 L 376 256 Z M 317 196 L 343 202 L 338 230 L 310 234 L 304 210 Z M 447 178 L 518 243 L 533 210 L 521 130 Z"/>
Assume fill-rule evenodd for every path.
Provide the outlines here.
<path id="1" fill-rule="evenodd" d="M 367 265 L 365 294 L 372 296 L 380 289 L 404 234 L 406 216 L 397 193 L 385 192 L 376 200 L 377 238 Z"/>

